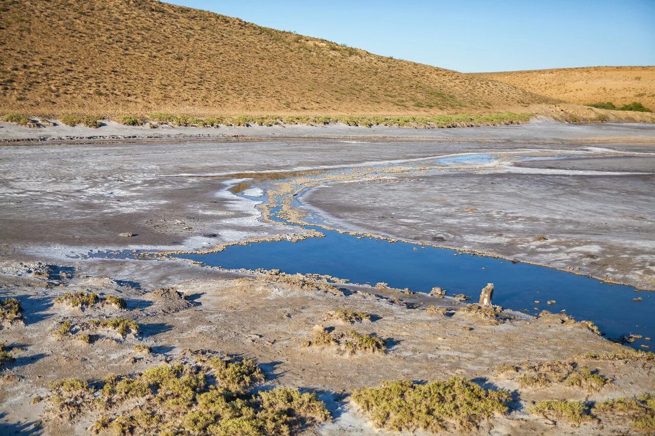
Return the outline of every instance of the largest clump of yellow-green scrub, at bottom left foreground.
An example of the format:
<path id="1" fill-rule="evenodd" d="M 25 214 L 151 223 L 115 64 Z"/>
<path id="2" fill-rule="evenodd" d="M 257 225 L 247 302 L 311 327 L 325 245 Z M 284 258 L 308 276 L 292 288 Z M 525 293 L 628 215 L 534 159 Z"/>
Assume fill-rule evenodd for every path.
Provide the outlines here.
<path id="1" fill-rule="evenodd" d="M 50 385 L 47 411 L 68 421 L 101 412 L 90 430 L 122 435 L 288 435 L 329 420 L 314 393 L 293 388 L 252 391 L 263 375 L 251 362 L 228 361 L 214 369 L 214 358 L 198 359 L 195 365 L 164 364 L 141 374 L 109 374 L 92 384 L 60 380 Z M 221 375 L 226 368 L 250 376 L 226 379 Z"/>

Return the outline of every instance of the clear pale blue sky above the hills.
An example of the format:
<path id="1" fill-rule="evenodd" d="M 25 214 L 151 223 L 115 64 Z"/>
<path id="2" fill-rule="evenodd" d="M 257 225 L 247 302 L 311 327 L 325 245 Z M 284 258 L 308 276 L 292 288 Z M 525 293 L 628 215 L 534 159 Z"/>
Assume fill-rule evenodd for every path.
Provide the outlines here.
<path id="1" fill-rule="evenodd" d="M 655 65 L 655 0 L 173 0 L 464 72 Z"/>

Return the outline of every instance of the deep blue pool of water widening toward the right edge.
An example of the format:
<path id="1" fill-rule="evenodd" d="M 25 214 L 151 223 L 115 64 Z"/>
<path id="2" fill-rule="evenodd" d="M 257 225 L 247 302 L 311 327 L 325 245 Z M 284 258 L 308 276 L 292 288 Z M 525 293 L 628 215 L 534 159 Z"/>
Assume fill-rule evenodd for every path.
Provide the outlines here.
<path id="1" fill-rule="evenodd" d="M 324 238 L 233 245 L 217 253 L 176 257 L 229 269 L 278 268 L 291 274 L 328 274 L 355 283 L 386 282 L 421 292 L 441 286 L 449 295 L 464 293 L 473 300 L 487 283 L 494 283 L 494 302 L 506 308 L 530 314 L 565 309 L 577 320 L 596 323 L 608 338 L 629 333 L 655 338 L 652 292 L 637 293 L 634 287 L 611 285 L 544 266 L 320 230 L 326 234 Z M 643 301 L 634 302 L 637 296 Z M 535 300 L 540 302 L 536 304 Z M 547 300 L 556 302 L 549 305 Z M 639 344 L 649 342 L 636 340 L 632 345 Z"/>

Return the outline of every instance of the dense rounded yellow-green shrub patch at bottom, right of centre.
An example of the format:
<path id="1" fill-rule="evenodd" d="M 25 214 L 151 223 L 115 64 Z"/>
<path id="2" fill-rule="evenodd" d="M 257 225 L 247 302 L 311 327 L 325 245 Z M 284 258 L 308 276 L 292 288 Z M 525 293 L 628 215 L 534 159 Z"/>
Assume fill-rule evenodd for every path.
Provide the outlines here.
<path id="1" fill-rule="evenodd" d="M 507 414 L 510 393 L 487 390 L 461 377 L 418 384 L 410 380 L 362 388 L 352 400 L 373 425 L 391 431 L 474 429 L 495 414 Z"/>

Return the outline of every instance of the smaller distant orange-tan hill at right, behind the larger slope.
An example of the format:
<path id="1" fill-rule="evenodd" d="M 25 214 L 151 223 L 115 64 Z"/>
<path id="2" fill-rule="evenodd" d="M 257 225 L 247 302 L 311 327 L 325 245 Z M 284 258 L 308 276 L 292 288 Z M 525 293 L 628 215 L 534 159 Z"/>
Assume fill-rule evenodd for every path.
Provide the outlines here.
<path id="1" fill-rule="evenodd" d="M 472 74 L 581 105 L 639 101 L 655 111 L 655 67 L 582 67 Z"/>

